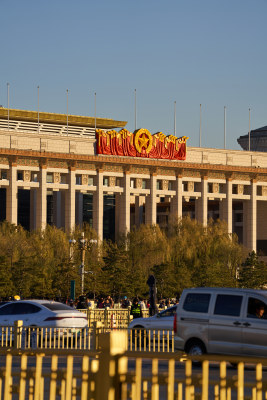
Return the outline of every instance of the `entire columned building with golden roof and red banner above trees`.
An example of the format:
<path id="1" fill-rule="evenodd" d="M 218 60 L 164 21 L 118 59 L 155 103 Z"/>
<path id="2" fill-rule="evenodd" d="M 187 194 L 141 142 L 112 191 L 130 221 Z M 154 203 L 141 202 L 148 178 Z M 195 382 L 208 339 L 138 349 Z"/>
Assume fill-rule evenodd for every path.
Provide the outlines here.
<path id="1" fill-rule="evenodd" d="M 187 146 L 125 121 L 0 107 L 0 220 L 66 231 L 89 223 L 99 240 L 140 224 L 190 216 L 225 220 L 267 255 L 267 153 Z"/>

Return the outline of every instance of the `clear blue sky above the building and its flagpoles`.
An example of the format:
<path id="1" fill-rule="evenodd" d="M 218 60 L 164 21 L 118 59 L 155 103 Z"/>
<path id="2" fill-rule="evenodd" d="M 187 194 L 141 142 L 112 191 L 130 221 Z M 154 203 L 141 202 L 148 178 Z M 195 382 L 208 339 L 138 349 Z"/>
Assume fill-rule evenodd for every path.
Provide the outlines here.
<path id="1" fill-rule="evenodd" d="M 0 0 L 0 104 L 128 121 L 240 149 L 267 125 L 267 0 Z"/>

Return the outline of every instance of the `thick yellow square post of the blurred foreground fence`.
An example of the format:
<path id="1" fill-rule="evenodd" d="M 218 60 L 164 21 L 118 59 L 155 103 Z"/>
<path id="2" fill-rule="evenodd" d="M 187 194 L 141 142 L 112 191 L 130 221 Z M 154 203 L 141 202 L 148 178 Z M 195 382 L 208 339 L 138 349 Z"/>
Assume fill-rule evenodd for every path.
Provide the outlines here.
<path id="1" fill-rule="evenodd" d="M 99 335 L 99 370 L 96 378 L 96 400 L 120 400 L 120 376 L 127 372 L 128 337 L 125 331 L 112 331 Z"/>

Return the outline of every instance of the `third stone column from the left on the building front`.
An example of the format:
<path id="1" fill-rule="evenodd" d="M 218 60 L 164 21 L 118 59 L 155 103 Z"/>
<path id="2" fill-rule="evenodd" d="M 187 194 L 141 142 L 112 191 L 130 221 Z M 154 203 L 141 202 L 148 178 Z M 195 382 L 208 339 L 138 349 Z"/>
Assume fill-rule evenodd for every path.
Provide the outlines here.
<path id="1" fill-rule="evenodd" d="M 65 229 L 69 232 L 75 229 L 75 170 L 69 168 L 69 189 L 65 193 Z"/>

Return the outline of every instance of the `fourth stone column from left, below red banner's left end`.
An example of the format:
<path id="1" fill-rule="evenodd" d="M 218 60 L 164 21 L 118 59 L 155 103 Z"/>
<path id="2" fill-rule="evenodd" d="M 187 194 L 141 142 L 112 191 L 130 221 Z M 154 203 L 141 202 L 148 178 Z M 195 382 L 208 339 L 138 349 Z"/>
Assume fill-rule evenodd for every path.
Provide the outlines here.
<path id="1" fill-rule="evenodd" d="M 93 194 L 93 228 L 100 241 L 103 240 L 103 171 L 98 170 L 95 177 L 96 192 Z"/>

